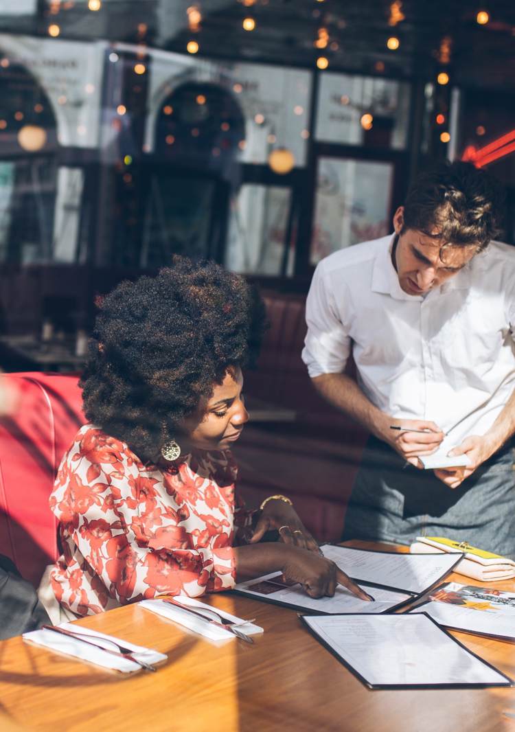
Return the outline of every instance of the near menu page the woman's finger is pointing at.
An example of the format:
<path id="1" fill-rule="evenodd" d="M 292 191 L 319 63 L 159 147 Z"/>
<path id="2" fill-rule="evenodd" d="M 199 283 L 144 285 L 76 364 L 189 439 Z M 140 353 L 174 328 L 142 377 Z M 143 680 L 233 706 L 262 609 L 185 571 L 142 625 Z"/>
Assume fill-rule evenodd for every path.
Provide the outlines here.
<path id="1" fill-rule="evenodd" d="M 375 602 L 360 600 L 341 585 L 337 586 L 334 597 L 320 597 L 315 600 L 304 592 L 301 585 L 286 586 L 281 577 L 281 572 L 270 572 L 254 580 L 241 582 L 235 589 L 252 595 L 257 600 L 273 600 L 298 610 L 316 610 L 320 613 L 385 613 L 402 602 L 413 600 L 410 594 L 369 587 L 363 583 L 360 586 L 374 597 Z"/>

